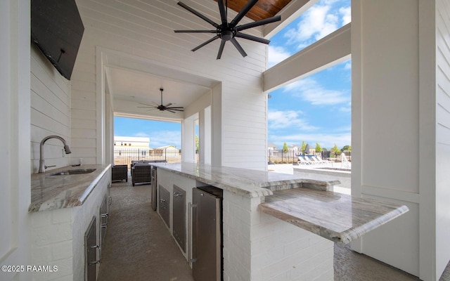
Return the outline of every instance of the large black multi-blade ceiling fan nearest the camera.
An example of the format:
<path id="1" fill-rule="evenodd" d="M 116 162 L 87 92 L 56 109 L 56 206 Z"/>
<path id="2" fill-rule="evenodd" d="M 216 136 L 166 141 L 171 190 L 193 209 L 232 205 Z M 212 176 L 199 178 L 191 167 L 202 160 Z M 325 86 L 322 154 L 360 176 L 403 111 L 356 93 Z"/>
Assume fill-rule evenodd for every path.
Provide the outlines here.
<path id="1" fill-rule="evenodd" d="M 213 22 L 209 18 L 207 18 L 205 15 L 199 13 L 198 11 L 195 11 L 193 8 L 187 6 L 186 4 L 182 2 L 178 2 L 178 5 L 185 8 L 186 10 L 190 11 L 194 15 L 197 15 L 199 18 L 205 20 L 206 22 L 209 22 L 212 26 L 216 28 L 216 30 L 174 30 L 174 32 L 186 32 L 186 33 L 215 33 L 216 35 L 212 37 L 210 40 L 205 41 L 203 44 L 200 44 L 199 46 L 196 46 L 191 51 L 197 51 L 199 48 L 202 48 L 203 46 L 210 44 L 212 41 L 216 39 L 221 39 L 220 47 L 219 47 L 219 53 L 217 53 L 217 60 L 221 58 L 222 52 L 224 51 L 224 46 L 226 41 L 231 41 L 231 43 L 238 49 L 239 53 L 245 57 L 247 53 L 245 53 L 244 49 L 235 37 L 248 39 L 252 41 L 257 41 L 264 44 L 269 44 L 270 40 L 259 38 L 252 36 L 250 34 L 242 33 L 241 31 L 247 30 L 252 27 L 257 27 L 259 25 L 266 25 L 271 22 L 277 22 L 278 20 L 281 20 L 280 15 L 276 15 L 271 18 L 266 18 L 264 20 L 257 20 L 256 22 L 249 22 L 245 23 L 243 25 L 238 25 L 239 21 L 242 20 L 242 18 L 250 11 L 250 9 L 255 6 L 258 0 L 249 0 L 247 4 L 240 10 L 240 12 L 236 15 L 231 22 L 228 22 L 227 19 L 227 10 L 228 10 L 228 0 L 226 0 L 226 6 L 224 6 L 223 0 L 217 0 L 217 4 L 219 4 L 219 12 L 220 12 L 220 18 L 221 18 L 221 24 L 217 24 L 216 22 Z"/>

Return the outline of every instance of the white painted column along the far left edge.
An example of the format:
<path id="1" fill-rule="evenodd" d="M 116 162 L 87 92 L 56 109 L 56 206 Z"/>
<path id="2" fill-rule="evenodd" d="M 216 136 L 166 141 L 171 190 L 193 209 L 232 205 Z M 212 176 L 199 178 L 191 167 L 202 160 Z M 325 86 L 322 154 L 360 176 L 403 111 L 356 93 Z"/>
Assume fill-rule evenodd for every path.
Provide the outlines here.
<path id="1" fill-rule="evenodd" d="M 0 1 L 0 261 L 30 264 L 30 1 Z M 0 280 L 29 280 L 3 273 Z"/>

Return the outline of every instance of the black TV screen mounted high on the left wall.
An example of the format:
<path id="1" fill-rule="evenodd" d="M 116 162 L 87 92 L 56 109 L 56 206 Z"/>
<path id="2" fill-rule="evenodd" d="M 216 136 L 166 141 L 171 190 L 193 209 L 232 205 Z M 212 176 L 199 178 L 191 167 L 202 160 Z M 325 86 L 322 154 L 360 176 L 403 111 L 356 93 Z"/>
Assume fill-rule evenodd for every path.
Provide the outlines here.
<path id="1" fill-rule="evenodd" d="M 75 0 L 32 0 L 31 38 L 70 80 L 84 32 Z"/>

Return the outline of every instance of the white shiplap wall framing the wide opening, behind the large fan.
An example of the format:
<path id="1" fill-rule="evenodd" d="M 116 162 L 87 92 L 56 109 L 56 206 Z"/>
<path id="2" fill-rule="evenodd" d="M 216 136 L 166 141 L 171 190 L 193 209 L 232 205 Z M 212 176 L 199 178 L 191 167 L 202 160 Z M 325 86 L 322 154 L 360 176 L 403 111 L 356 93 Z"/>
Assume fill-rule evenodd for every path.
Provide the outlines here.
<path id="1" fill-rule="evenodd" d="M 187 1 L 186 4 L 219 22 L 216 2 Z M 101 133 L 96 130 L 101 120 L 94 117 L 94 112 L 98 109 L 96 46 L 101 46 L 221 81 L 221 143 L 224 145 L 221 164 L 266 169 L 266 96 L 261 82 L 266 67 L 264 44 L 238 39 L 248 53 L 246 58 L 232 44 L 226 44 L 221 60 L 216 60 L 219 40 L 196 52 L 190 51 L 210 39 L 211 34 L 173 32 L 210 29 L 207 22 L 177 6 L 176 1 L 127 1 L 125 4 L 78 0 L 77 5 L 85 32 L 72 78 L 72 142 L 77 148 L 72 157 L 94 162 L 94 155 L 100 154 L 96 142 Z M 229 17 L 233 15 L 236 13 L 229 11 Z M 262 30 L 257 28 L 250 32 L 262 35 Z"/>

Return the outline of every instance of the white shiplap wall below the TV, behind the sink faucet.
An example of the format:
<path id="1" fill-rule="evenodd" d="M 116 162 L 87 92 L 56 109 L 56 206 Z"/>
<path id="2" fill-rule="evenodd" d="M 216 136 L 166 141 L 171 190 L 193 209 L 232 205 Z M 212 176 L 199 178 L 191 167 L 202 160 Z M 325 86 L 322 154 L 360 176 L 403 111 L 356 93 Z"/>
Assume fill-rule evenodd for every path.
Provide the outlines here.
<path id="1" fill-rule="evenodd" d="M 61 136 L 70 145 L 70 81 L 61 76 L 34 45 L 30 67 L 31 170 L 37 173 L 43 138 Z M 44 159 L 46 166 L 68 166 L 70 155 L 63 153 L 63 143 L 50 139 L 44 145 Z"/>

